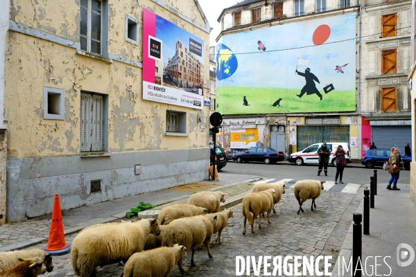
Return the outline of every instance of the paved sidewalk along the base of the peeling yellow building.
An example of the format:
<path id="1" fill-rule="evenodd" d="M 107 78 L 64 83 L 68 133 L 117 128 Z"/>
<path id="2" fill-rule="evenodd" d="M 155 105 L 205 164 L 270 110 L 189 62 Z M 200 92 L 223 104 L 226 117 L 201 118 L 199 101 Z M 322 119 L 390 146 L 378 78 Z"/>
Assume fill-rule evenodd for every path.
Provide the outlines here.
<path id="1" fill-rule="evenodd" d="M 234 186 L 236 184 L 257 181 L 259 179 L 261 179 L 261 177 L 253 175 L 234 175 L 220 172 L 219 181 L 205 180 L 200 181 L 199 183 L 218 184 L 219 186 L 214 188 L 215 190 Z M 229 196 L 239 195 L 240 193 L 245 193 L 245 191 L 235 190 L 232 191 L 232 195 Z M 125 217 L 125 213 L 130 211 L 130 208 L 136 207 L 141 201 L 155 206 L 161 206 L 163 204 L 187 198 L 189 195 L 191 195 L 191 193 L 164 189 L 62 211 L 64 234 L 69 235 L 71 233 L 76 233 L 87 226 L 92 226 L 94 224 L 121 220 Z M 233 201 L 239 198 L 239 196 L 229 197 L 227 202 L 229 205 L 232 205 L 234 203 Z M 155 217 L 157 218 L 157 215 L 155 215 Z M 48 240 L 49 229 L 51 226 L 50 222 L 51 214 L 26 220 L 25 222 L 3 224 L 0 226 L 0 252 L 22 249 Z"/>

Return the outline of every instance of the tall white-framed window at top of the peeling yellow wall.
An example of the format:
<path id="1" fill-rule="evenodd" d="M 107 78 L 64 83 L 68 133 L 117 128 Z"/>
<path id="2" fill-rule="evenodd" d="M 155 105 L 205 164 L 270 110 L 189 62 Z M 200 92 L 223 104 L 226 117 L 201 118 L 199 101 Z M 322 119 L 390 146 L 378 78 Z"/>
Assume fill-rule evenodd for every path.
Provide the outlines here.
<path id="1" fill-rule="evenodd" d="M 98 55 L 101 55 L 101 10 L 101 1 L 81 0 L 81 49 Z"/>

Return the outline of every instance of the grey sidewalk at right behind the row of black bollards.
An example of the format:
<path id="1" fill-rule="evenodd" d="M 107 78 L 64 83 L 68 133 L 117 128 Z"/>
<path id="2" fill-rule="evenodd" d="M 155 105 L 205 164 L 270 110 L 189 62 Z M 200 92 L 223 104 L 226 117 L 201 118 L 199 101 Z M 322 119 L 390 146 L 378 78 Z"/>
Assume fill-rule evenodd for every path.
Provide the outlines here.
<path id="1" fill-rule="evenodd" d="M 397 251 L 400 250 L 399 244 L 405 243 L 413 249 L 413 257 L 415 256 L 416 205 L 409 195 L 409 184 L 398 184 L 397 187 L 401 189 L 399 191 L 387 190 L 387 185 L 386 183 L 378 184 L 377 195 L 374 195 L 374 208 L 370 208 L 370 235 L 362 235 L 362 263 L 363 269 L 367 270 L 367 272 L 364 271 L 363 276 L 376 276 L 376 274 L 378 276 L 415 276 L 416 260 L 407 267 L 401 267 L 397 262 L 399 255 Z M 358 191 L 358 193 L 361 193 L 363 197 L 363 192 Z M 361 202 L 355 213 L 363 214 L 363 208 L 364 202 Z M 352 220 L 352 215 L 350 217 Z M 408 252 L 408 256 L 401 259 L 401 262 L 406 262 L 412 255 L 412 250 L 400 248 Z M 351 271 L 348 271 L 349 275 L 347 275 L 347 267 L 344 266 L 344 275 L 342 269 L 343 260 L 347 265 L 351 256 L 352 224 L 333 268 L 332 276 L 351 276 Z M 379 258 L 375 260 L 375 256 Z"/>

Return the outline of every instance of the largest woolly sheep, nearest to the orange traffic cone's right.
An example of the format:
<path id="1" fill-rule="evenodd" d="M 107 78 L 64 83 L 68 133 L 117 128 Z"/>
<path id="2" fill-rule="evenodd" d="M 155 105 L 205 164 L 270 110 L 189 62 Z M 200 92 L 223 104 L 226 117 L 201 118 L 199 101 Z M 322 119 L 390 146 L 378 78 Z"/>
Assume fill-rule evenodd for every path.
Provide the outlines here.
<path id="1" fill-rule="evenodd" d="M 148 235 L 159 235 L 157 220 L 149 218 L 134 223 L 97 224 L 78 233 L 72 241 L 71 262 L 77 276 L 95 274 L 96 267 L 127 261 L 143 251 Z"/>

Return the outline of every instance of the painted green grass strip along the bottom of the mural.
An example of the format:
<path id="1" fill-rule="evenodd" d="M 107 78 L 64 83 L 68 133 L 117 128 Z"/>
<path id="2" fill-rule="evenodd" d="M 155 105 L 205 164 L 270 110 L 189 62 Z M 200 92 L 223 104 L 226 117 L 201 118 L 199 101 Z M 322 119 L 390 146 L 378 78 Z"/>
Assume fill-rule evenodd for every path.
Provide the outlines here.
<path id="1" fill-rule="evenodd" d="M 270 89 L 257 87 L 218 87 L 218 111 L 221 114 L 296 114 L 305 112 L 338 112 L 356 110 L 355 91 L 337 91 L 322 94 L 322 101 L 316 94 L 297 97 L 300 89 Z M 243 105 L 246 96 L 248 105 Z M 272 104 L 281 98 L 280 107 Z"/>

